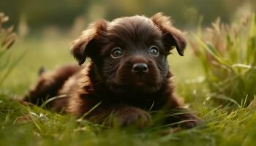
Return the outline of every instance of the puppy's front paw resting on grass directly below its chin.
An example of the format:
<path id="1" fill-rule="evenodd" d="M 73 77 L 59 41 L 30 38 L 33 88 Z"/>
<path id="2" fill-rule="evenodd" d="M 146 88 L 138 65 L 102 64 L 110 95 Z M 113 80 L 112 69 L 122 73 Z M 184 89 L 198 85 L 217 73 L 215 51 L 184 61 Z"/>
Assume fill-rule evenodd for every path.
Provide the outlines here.
<path id="1" fill-rule="evenodd" d="M 135 126 L 143 128 L 151 123 L 151 116 L 148 112 L 137 107 L 127 107 L 118 111 L 117 120 L 121 127 Z"/>

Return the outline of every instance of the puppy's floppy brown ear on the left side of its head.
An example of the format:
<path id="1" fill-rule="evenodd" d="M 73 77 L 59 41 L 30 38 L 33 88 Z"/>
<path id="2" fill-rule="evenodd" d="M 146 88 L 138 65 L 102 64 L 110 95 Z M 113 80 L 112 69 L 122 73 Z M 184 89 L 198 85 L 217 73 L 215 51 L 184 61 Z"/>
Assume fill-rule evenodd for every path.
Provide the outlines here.
<path id="1" fill-rule="evenodd" d="M 99 50 L 99 37 L 104 34 L 108 22 L 106 20 L 97 20 L 91 23 L 83 33 L 72 43 L 71 53 L 81 65 L 86 61 L 86 57 L 92 58 Z"/>

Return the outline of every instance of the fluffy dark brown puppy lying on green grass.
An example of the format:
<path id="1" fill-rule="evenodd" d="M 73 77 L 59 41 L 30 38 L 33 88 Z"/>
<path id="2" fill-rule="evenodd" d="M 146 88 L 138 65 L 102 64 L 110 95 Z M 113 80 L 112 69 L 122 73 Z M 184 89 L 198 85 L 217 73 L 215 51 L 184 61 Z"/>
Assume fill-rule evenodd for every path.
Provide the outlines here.
<path id="1" fill-rule="evenodd" d="M 62 66 L 45 72 L 24 99 L 33 104 L 53 96 L 48 107 L 111 125 L 113 115 L 121 126 L 146 126 L 148 110 L 182 110 L 173 94 L 167 55 L 176 47 L 184 55 L 184 34 L 174 28 L 170 18 L 158 13 L 152 18 L 132 16 L 111 22 L 97 20 L 75 40 L 71 52 L 81 65 Z M 96 106 L 94 110 L 91 110 Z M 167 116 L 165 123 L 186 120 L 181 126 L 192 128 L 199 119 L 189 112 Z"/>

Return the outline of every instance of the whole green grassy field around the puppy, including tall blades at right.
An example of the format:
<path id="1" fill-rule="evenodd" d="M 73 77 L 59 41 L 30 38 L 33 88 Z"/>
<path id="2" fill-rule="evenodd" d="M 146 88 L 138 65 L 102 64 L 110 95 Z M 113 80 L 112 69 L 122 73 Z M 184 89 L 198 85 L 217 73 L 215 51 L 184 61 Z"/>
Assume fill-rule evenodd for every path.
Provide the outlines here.
<path id="1" fill-rule="evenodd" d="M 0 61 L 10 58 L 8 64 L 17 63 L 0 86 L 0 145 L 255 145 L 255 15 L 243 27 L 241 30 L 245 31 L 239 34 L 241 38 L 230 39 L 230 42 L 234 40 L 230 43 L 233 48 L 230 51 L 220 53 L 216 46 L 204 42 L 203 33 L 189 31 L 189 41 L 197 42 L 197 47 L 201 49 L 197 55 L 193 50 L 195 46 L 189 45 L 184 57 L 178 56 L 174 50 L 168 57 L 170 70 L 176 74 L 173 78 L 176 92 L 205 124 L 181 131 L 160 125 L 140 130 L 102 128 L 43 107 L 20 104 L 15 99 L 34 85 L 40 67 L 54 69 L 61 64 L 76 63 L 69 54 L 70 42 L 75 37 L 67 37 L 68 32 L 21 37 L 0 58 Z M 228 31 L 227 34 L 233 37 L 232 32 Z M 244 48 L 243 53 L 247 53 L 235 58 L 241 52 L 235 53 L 238 51 L 233 50 L 240 47 Z M 206 55 L 210 57 L 204 58 Z M 21 59 L 18 61 L 18 58 Z M 231 66 L 230 69 L 234 70 L 231 73 L 239 74 L 236 78 L 244 81 L 243 84 L 241 80 L 233 79 L 235 75 L 231 73 L 225 76 L 226 70 L 212 66 L 211 61 Z M 238 69 L 233 68 L 235 63 L 239 63 L 236 64 Z M 8 69 L 10 66 L 0 69 L 0 77 L 4 77 Z M 251 72 L 252 76 L 245 72 Z M 226 78 L 230 79 L 225 82 L 228 90 L 218 91 L 216 85 L 223 87 L 221 81 Z M 230 90 L 233 92 L 229 93 Z M 222 98 L 214 98 L 220 95 Z"/>

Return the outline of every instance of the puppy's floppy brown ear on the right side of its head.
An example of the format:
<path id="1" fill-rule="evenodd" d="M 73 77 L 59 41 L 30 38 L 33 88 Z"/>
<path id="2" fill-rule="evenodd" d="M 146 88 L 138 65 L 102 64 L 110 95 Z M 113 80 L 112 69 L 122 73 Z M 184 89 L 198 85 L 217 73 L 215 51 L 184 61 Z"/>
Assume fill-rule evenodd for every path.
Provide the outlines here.
<path id="1" fill-rule="evenodd" d="M 162 31 L 165 46 L 172 49 L 176 47 L 179 55 L 184 55 L 187 45 L 184 33 L 172 26 L 170 17 L 163 15 L 161 12 L 151 17 L 153 23 Z"/>

